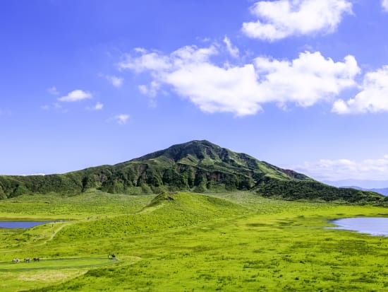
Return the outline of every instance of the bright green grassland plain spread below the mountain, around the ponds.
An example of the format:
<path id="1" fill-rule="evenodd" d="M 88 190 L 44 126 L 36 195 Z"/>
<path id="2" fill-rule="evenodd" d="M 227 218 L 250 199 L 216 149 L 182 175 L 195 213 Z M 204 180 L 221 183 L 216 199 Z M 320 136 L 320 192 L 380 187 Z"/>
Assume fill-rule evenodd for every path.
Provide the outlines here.
<path id="1" fill-rule="evenodd" d="M 388 291 L 388 238 L 325 228 L 351 216 L 388 216 L 388 209 L 252 192 L 23 195 L 0 202 L 0 218 L 66 221 L 0 229 L 0 269 L 8 267 L 0 289 Z M 86 259 L 86 265 L 111 253 L 119 261 L 49 267 L 54 259 Z M 47 259 L 47 266 L 9 268 L 14 257 L 27 256 Z"/>

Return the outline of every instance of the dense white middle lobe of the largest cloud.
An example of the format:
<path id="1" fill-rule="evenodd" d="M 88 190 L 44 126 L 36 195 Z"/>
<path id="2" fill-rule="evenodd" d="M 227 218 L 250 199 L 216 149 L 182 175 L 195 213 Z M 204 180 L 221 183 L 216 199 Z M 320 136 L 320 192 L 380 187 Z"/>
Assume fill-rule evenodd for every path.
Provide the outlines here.
<path id="1" fill-rule="evenodd" d="M 264 101 L 252 64 L 228 69 L 210 63 L 191 64 L 166 74 L 164 81 L 203 112 L 253 115 Z"/>

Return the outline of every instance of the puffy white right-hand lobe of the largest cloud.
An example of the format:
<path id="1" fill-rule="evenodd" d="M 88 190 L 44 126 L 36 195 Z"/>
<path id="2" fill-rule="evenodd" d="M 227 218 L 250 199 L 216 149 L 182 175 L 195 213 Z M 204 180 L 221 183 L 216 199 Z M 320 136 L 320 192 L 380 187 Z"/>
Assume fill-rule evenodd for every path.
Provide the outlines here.
<path id="1" fill-rule="evenodd" d="M 291 62 L 259 57 L 255 64 L 257 73 L 265 76 L 261 86 L 268 101 L 280 105 L 293 102 L 303 107 L 330 100 L 341 90 L 356 86 L 354 77 L 360 73 L 353 56 L 345 57 L 344 62 L 334 62 L 320 52 L 301 53 Z"/>

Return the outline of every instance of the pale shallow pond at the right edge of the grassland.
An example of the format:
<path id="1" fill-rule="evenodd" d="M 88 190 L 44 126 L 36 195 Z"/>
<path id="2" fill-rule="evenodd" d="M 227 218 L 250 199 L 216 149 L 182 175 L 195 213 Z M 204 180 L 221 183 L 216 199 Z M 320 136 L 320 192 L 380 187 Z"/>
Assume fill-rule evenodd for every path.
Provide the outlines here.
<path id="1" fill-rule="evenodd" d="M 333 229 L 353 230 L 358 231 L 359 233 L 369 233 L 370 235 L 388 236 L 388 218 L 344 218 L 331 221 L 330 223 L 338 226 Z"/>

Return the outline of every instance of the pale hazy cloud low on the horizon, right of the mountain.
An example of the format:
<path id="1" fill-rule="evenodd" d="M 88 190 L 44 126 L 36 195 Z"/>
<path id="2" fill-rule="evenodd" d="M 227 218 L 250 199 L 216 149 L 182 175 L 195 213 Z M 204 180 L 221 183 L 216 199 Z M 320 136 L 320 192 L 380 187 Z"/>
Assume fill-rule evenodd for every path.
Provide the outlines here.
<path id="1" fill-rule="evenodd" d="M 378 159 L 362 161 L 322 159 L 291 166 L 292 169 L 314 177 L 317 180 L 387 180 L 388 155 Z"/>

